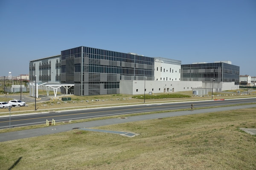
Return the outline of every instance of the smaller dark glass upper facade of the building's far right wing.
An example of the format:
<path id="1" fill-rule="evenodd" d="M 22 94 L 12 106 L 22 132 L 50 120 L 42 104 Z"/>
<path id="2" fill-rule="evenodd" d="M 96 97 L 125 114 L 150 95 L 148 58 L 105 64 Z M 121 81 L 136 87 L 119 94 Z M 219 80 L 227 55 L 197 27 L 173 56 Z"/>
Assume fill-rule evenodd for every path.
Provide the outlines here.
<path id="1" fill-rule="evenodd" d="M 181 65 L 181 81 L 234 82 L 239 85 L 239 66 L 227 62 Z"/>

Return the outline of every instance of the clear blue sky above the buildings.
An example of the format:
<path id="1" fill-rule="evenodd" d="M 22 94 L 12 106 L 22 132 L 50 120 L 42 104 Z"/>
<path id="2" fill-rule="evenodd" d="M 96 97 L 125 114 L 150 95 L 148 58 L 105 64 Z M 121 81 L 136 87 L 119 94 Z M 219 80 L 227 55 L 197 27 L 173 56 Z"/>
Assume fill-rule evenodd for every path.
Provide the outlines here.
<path id="1" fill-rule="evenodd" d="M 256 76 L 256 0 L 0 0 L 0 76 L 79 46 Z"/>

